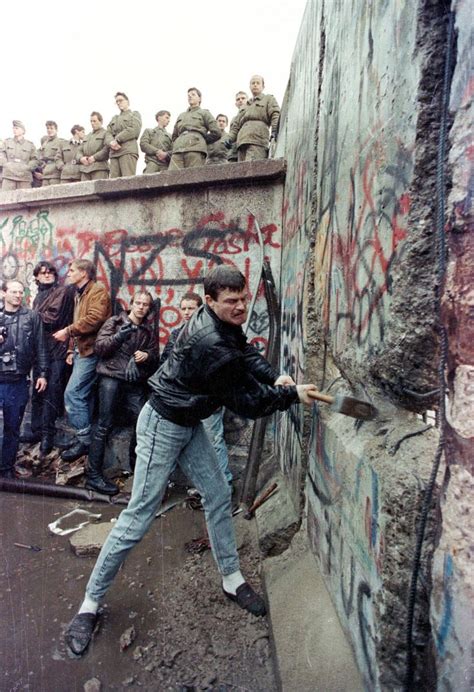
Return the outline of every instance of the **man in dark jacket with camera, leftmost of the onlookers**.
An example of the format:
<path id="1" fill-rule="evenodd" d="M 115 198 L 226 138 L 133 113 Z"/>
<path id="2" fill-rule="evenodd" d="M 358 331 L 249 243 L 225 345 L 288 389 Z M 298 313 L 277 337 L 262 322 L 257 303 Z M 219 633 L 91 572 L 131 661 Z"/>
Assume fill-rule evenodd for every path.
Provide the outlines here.
<path id="1" fill-rule="evenodd" d="M 47 387 L 48 349 L 40 316 L 22 306 L 25 287 L 17 279 L 1 285 L 3 306 L 0 309 L 0 405 L 3 409 L 3 444 L 0 476 L 15 477 L 15 460 L 20 441 L 20 427 L 28 401 L 28 375 L 34 364 L 38 392 Z"/>

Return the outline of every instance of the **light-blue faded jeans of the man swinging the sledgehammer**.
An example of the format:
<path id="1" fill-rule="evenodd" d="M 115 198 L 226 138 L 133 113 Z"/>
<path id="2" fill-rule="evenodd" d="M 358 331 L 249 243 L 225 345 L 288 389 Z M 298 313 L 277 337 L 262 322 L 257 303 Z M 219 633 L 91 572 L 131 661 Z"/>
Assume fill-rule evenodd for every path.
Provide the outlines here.
<path id="1" fill-rule="evenodd" d="M 100 601 L 128 552 L 150 528 L 163 499 L 168 477 L 179 464 L 200 495 L 212 553 L 219 572 L 239 569 L 232 522 L 231 490 L 202 424 L 176 425 L 149 403 L 137 422 L 137 465 L 132 497 L 110 532 L 87 584 L 87 594 Z"/>

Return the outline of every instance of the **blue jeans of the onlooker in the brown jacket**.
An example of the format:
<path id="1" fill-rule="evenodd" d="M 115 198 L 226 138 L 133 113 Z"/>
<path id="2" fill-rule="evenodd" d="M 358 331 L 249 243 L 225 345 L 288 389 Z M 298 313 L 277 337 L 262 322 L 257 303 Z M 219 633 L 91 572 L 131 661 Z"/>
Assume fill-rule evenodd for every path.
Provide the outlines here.
<path id="1" fill-rule="evenodd" d="M 95 354 L 81 358 L 74 350 L 72 373 L 64 392 L 64 408 L 76 436 L 83 444 L 90 443 L 93 410 L 93 387 L 97 380 Z"/>

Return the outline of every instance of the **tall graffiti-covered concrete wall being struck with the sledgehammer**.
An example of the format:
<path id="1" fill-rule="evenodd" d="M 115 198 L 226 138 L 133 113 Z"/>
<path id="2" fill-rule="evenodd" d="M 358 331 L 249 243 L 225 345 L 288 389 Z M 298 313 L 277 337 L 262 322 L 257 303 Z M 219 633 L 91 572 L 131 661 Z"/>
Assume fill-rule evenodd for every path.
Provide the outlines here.
<path id="1" fill-rule="evenodd" d="M 299 381 L 369 397 L 380 411 L 356 423 L 320 406 L 309 441 L 299 414 L 282 417 L 277 433 L 296 505 L 306 479 L 314 554 L 368 689 L 403 685 L 415 534 L 438 442 L 417 414 L 437 401 L 448 9 L 310 0 L 281 125 L 292 210 L 283 217 L 282 362 Z M 437 487 L 415 610 L 417 689 L 433 689 L 439 657 L 428 615 L 436 500 Z"/>

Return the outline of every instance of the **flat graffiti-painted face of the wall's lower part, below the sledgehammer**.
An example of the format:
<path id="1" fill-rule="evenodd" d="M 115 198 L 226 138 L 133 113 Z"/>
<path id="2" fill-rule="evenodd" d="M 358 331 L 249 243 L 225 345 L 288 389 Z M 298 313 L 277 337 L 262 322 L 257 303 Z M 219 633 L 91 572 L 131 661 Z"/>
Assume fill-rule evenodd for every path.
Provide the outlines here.
<path id="1" fill-rule="evenodd" d="M 348 458 L 343 443 L 315 409 L 310 443 L 308 532 L 331 584 L 339 616 L 351 631 L 369 686 L 376 680 L 373 595 L 380 587 L 385 541 L 379 479 L 363 459 Z"/>

